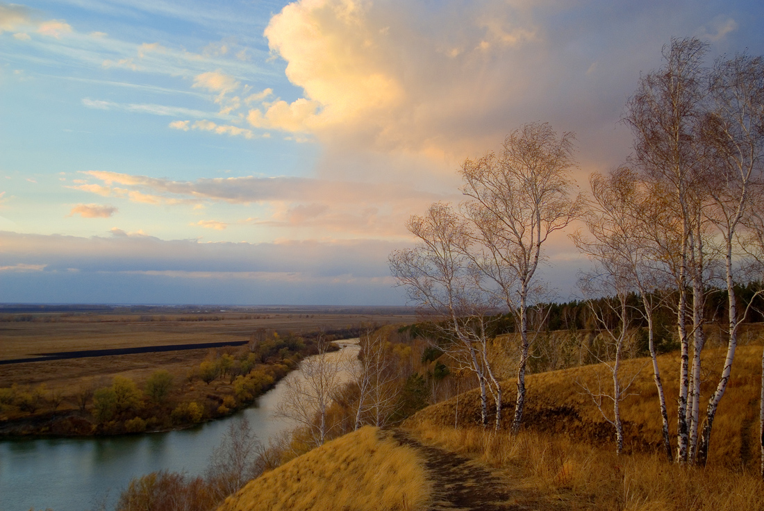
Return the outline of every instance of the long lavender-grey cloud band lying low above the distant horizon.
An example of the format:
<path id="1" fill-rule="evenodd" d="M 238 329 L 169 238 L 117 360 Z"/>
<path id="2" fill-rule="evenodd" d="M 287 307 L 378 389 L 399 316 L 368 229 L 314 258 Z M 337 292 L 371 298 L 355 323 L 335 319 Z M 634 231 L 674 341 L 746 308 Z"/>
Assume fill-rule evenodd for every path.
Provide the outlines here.
<path id="1" fill-rule="evenodd" d="M 0 231 L 7 266 L 43 265 L 47 271 L 183 271 L 302 273 L 310 277 L 388 277 L 387 254 L 399 245 L 374 240 L 202 243 L 165 241 L 112 229 L 108 237 Z M 310 257 L 306 257 L 310 254 Z"/>

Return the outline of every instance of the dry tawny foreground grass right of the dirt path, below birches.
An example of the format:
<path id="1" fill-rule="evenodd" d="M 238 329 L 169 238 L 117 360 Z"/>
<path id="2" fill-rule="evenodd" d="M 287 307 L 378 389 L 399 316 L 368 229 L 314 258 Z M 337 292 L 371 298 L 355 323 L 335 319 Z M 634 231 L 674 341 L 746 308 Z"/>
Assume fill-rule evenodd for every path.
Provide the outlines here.
<path id="1" fill-rule="evenodd" d="M 569 438 L 409 422 L 420 441 L 494 468 L 520 506 L 591 511 L 742 511 L 764 509 L 759 477 L 726 467 L 679 467 L 657 454 L 617 456 Z"/>

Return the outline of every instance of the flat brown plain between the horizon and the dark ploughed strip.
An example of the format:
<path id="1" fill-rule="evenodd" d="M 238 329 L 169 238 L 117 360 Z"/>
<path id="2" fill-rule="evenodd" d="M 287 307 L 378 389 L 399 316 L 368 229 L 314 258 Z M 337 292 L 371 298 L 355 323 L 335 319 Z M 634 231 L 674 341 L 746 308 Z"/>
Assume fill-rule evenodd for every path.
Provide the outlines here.
<path id="1" fill-rule="evenodd" d="M 246 341 L 258 328 L 297 335 L 358 326 L 413 322 L 403 308 L 269 307 L 178 313 L 172 307 L 126 312 L 3 312 L 0 361 L 60 351 L 136 348 L 166 344 Z M 0 380 L 2 381 L 2 380 Z"/>

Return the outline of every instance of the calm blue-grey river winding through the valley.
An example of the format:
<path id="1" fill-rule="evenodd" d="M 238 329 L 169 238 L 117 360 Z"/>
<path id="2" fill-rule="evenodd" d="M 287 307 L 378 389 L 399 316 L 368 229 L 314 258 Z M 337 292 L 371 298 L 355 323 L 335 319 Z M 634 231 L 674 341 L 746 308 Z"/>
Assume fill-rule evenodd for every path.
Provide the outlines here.
<path id="1" fill-rule="evenodd" d="M 353 339 L 338 342 L 342 350 L 358 351 Z M 299 370 L 285 378 L 299 378 Z M 112 509 L 133 477 L 154 471 L 202 475 L 212 450 L 232 421 L 246 417 L 260 441 L 290 424 L 274 417 L 283 393 L 282 380 L 260 396 L 257 406 L 193 429 L 143 435 L 86 438 L 0 440 L 0 511 L 86 511 L 107 503 Z"/>

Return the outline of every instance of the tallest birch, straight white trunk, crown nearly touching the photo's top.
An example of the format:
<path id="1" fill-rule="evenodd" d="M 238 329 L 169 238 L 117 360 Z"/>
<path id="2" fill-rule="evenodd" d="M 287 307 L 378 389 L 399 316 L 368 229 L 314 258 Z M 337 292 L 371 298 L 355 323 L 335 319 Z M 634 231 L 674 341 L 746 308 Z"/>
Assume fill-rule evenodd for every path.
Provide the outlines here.
<path id="1" fill-rule="evenodd" d="M 676 257 L 677 330 L 681 344 L 676 458 L 680 463 L 690 461 L 693 430 L 697 431 L 697 421 L 693 427 L 698 403 L 695 390 L 700 386 L 699 355 L 704 344 L 704 237 L 698 198 L 702 158 L 698 148 L 698 119 L 704 101 L 702 63 L 706 50 L 707 45 L 695 38 L 672 39 L 669 47 L 663 49 L 664 66 L 642 76 L 624 117 L 634 134 L 636 163 L 656 189 L 672 196 L 681 224 L 678 254 L 672 254 Z M 691 288 L 691 302 L 688 288 Z M 688 332 L 688 322 L 692 322 L 691 332 Z M 694 340 L 692 372 L 690 335 Z"/>

